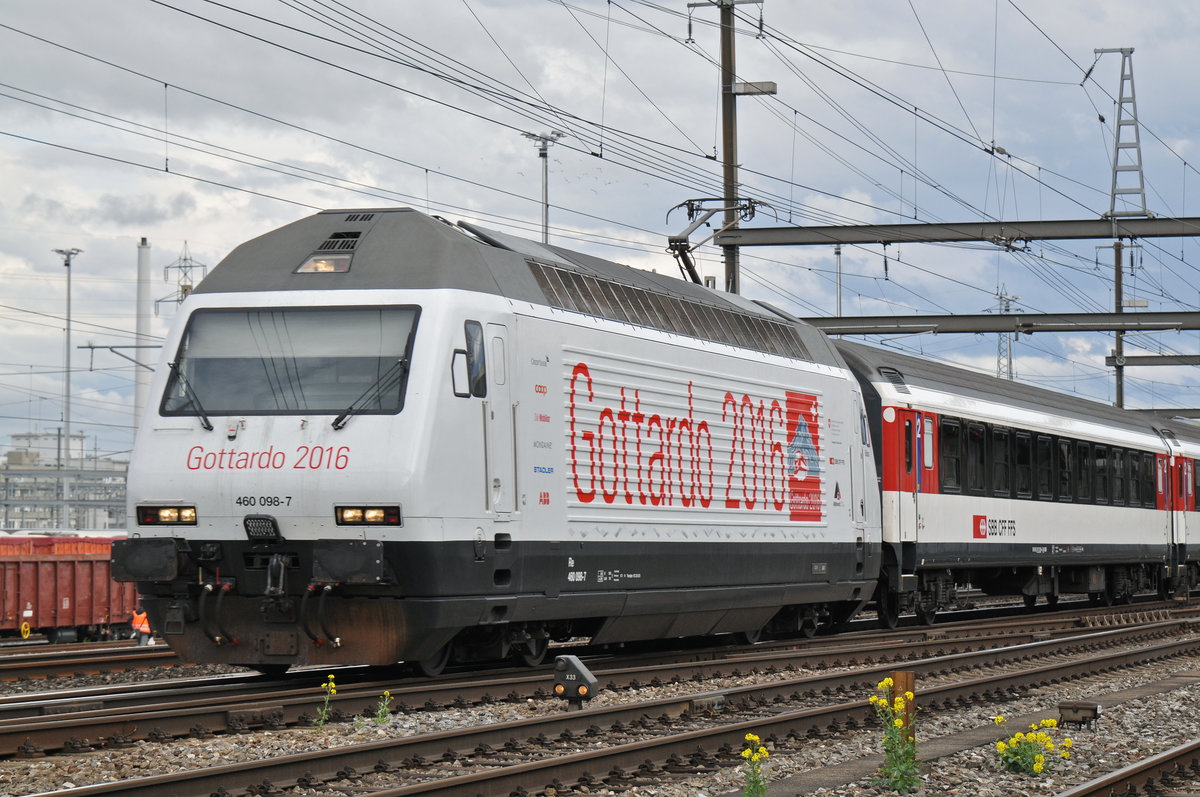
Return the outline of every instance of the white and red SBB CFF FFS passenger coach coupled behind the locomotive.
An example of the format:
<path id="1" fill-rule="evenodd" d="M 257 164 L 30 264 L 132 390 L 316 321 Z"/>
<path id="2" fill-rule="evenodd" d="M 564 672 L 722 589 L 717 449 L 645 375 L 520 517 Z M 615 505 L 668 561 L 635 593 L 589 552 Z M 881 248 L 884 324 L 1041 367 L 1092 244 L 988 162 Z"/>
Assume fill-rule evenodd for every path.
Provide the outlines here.
<path id="1" fill-rule="evenodd" d="M 967 583 L 1030 606 L 1063 593 L 1100 603 L 1165 594 L 1183 533 L 1182 513 L 1169 509 L 1194 509 L 1195 496 L 1190 477 L 1172 491 L 1169 469 L 1192 473 L 1192 460 L 1172 460 L 1150 417 L 836 347 L 863 385 L 882 479 L 886 624 L 901 610 L 932 622 Z"/>

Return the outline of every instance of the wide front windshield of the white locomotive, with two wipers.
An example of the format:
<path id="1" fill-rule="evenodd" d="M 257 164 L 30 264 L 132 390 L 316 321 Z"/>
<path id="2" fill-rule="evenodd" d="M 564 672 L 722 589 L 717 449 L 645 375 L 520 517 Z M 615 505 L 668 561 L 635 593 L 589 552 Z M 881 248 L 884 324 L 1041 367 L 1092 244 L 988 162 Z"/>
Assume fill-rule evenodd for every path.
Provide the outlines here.
<path id="1" fill-rule="evenodd" d="M 396 414 L 419 314 L 412 306 L 198 310 L 160 411 Z"/>

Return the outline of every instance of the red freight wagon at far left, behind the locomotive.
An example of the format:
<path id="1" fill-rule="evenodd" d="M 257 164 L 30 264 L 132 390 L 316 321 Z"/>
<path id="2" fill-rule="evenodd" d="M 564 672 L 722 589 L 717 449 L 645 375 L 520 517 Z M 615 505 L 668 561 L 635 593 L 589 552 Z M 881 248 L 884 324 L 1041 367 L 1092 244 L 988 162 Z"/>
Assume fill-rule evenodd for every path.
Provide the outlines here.
<path id="1" fill-rule="evenodd" d="M 127 624 L 137 587 L 109 574 L 113 537 L 0 538 L 0 635 L 107 637 Z"/>

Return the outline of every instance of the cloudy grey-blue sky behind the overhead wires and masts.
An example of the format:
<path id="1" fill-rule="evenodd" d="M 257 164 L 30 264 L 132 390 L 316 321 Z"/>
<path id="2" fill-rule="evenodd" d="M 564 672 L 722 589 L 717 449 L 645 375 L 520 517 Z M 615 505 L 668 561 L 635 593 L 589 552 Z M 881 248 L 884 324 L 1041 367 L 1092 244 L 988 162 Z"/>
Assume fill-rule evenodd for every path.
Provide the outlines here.
<path id="1" fill-rule="evenodd" d="M 739 0 L 740 4 L 740 0 Z M 640 0 L 8 0 L 0 17 L 0 451 L 62 424 L 72 265 L 72 426 L 124 457 L 137 241 L 155 299 L 186 251 L 215 265 L 247 238 L 325 208 L 410 205 L 540 235 L 550 150 L 554 242 L 676 272 L 666 236 L 718 196 L 715 7 Z M 1200 13 L 1190 0 L 767 0 L 737 6 L 750 224 L 1096 218 L 1109 210 L 1120 54 L 1134 79 L 1146 203 L 1200 215 Z M 761 19 L 761 31 L 760 31 Z M 1094 65 L 1094 68 L 1093 68 Z M 1086 79 L 1085 79 L 1086 76 Z M 778 215 L 778 222 L 776 222 Z M 847 247 L 845 314 L 1112 307 L 1111 241 Z M 719 251 L 697 252 L 709 274 Z M 1194 240 L 1134 250 L 1127 298 L 1200 305 Z M 754 248 L 743 293 L 833 314 L 832 247 Z M 1132 271 L 1130 271 L 1132 269 Z M 167 280 L 163 280 L 164 272 Z M 199 270 L 197 270 L 197 276 Z M 155 335 L 175 312 L 160 302 Z M 1127 337 L 1195 353 L 1196 332 Z M 995 371 L 985 335 L 888 344 Z M 1018 378 L 1114 397 L 1105 335 L 1036 335 Z M 132 353 L 128 349 L 118 349 Z M 1136 353 L 1136 352 L 1134 352 Z M 1127 371 L 1126 401 L 1195 407 L 1195 368 Z"/>

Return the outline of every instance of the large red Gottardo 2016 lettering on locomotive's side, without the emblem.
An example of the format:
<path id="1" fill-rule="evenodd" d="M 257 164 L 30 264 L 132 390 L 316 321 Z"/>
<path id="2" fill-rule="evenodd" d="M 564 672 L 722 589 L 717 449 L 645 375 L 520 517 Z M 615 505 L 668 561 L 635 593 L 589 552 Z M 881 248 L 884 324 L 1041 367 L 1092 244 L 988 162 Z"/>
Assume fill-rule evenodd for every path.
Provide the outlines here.
<path id="1" fill-rule="evenodd" d="M 577 413 L 595 411 L 595 390 L 588 366 L 580 362 L 570 382 L 571 489 L 582 503 L 599 497 L 622 503 L 707 509 L 714 497 L 726 509 L 785 510 L 788 474 L 782 436 L 785 408 L 778 400 L 755 402 L 749 395 L 726 392 L 721 424 L 732 429 L 727 451 L 714 451 L 707 420 L 696 420 L 692 383 L 688 383 L 688 414 L 664 417 L 642 412 L 637 389 L 620 388 L 617 407 L 600 407 L 596 429 L 582 429 Z M 786 438 L 782 438 L 786 439 Z M 714 496 L 716 473 L 724 495 Z"/>

